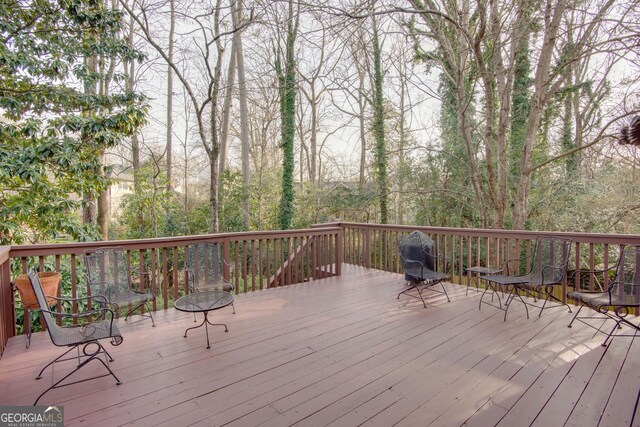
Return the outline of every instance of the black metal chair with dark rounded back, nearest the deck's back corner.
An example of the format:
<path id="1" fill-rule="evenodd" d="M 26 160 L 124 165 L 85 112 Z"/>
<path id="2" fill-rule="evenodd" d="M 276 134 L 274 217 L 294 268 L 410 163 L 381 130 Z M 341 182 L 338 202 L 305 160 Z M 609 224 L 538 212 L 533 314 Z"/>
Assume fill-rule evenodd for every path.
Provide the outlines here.
<path id="1" fill-rule="evenodd" d="M 435 253 L 435 243 L 429 236 L 420 231 L 412 232 L 398 242 L 398 252 L 402 261 L 404 278 L 409 285 L 407 289 L 398 294 L 398 299 L 402 294 L 418 298 L 427 308 L 422 293 L 425 289 L 429 289 L 443 293 L 447 297 L 447 301 L 451 301 L 443 284 L 444 281 L 450 280 L 451 276 L 436 271 L 438 258 Z M 438 284 L 442 290 L 433 288 Z"/>

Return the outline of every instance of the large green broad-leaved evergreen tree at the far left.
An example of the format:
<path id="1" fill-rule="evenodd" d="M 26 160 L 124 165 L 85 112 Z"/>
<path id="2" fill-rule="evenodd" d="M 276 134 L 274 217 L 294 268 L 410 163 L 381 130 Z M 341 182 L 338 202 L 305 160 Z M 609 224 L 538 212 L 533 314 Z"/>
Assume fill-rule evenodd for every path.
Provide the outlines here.
<path id="1" fill-rule="evenodd" d="M 119 37 L 121 16 L 94 0 L 2 0 L 0 15 L 0 244 L 98 236 L 80 195 L 108 185 L 99 153 L 134 135 L 144 99 L 90 82 L 121 82 L 86 58 L 141 60 Z M 98 68 L 99 69 L 99 68 Z"/>

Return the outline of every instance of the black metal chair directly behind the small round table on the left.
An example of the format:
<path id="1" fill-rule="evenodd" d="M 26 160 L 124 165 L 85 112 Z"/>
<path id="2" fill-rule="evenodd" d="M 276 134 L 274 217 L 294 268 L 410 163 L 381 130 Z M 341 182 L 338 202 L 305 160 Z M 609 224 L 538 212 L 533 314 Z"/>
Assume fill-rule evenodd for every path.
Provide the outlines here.
<path id="1" fill-rule="evenodd" d="M 233 291 L 233 284 L 225 280 L 225 267 L 231 271 L 231 266 L 222 257 L 222 245 L 217 242 L 194 243 L 185 248 L 189 292 Z M 235 306 L 231 304 L 231 307 L 235 314 Z"/>

